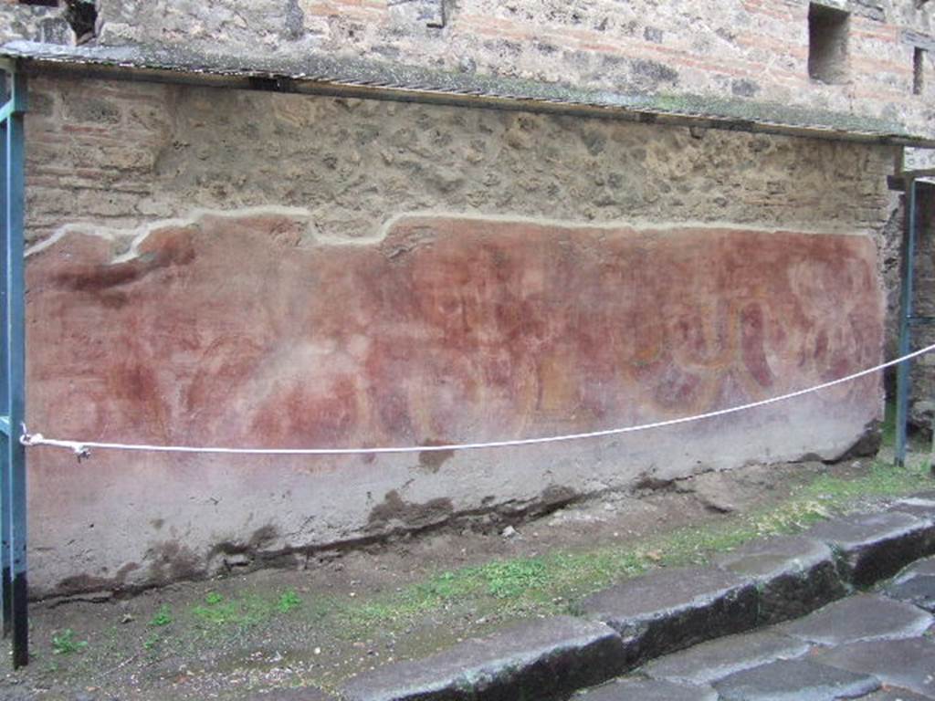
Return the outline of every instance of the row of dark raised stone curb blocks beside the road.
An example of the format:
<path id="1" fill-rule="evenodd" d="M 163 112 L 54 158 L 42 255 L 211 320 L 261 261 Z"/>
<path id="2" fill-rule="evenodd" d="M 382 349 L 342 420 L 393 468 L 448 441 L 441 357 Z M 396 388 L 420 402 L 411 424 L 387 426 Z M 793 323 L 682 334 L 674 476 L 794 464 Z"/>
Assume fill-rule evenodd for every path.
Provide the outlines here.
<path id="1" fill-rule="evenodd" d="M 669 652 L 798 618 L 935 554 L 935 493 L 880 513 L 749 543 L 712 567 L 660 569 L 556 616 L 387 665 L 349 681 L 349 701 L 567 698 Z"/>

